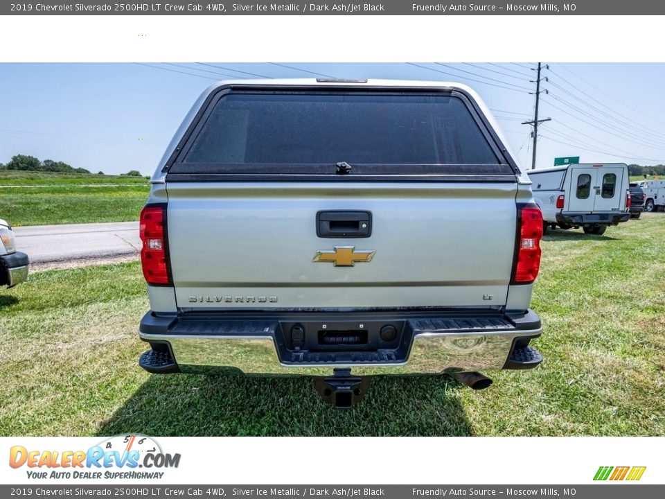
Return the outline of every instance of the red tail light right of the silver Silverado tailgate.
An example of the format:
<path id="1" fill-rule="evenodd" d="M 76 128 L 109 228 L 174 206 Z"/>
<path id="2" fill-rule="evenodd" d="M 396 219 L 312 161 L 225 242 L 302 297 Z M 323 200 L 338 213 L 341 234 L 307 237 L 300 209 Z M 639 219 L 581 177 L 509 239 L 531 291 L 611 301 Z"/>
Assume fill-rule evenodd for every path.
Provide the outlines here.
<path id="1" fill-rule="evenodd" d="M 515 283 L 535 281 L 540 270 L 540 239 L 542 239 L 542 213 L 535 206 L 522 208 L 520 225 L 517 227 L 517 265 L 515 265 Z"/>

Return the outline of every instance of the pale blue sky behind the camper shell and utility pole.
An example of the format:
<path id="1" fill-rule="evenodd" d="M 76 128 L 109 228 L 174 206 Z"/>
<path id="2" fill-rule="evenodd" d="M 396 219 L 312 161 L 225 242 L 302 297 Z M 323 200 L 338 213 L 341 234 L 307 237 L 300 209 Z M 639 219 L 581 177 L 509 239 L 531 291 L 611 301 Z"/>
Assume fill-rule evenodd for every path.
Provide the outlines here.
<path id="1" fill-rule="evenodd" d="M 520 123 L 533 116 L 533 63 L 280 64 L 0 64 L 0 162 L 26 154 L 95 173 L 150 175 L 213 81 L 318 73 L 466 83 L 495 110 L 520 163 L 531 165 L 530 128 Z M 552 121 L 540 127 L 537 166 L 558 156 L 665 164 L 665 64 L 549 63 L 542 76 L 549 95 L 539 115 Z"/>

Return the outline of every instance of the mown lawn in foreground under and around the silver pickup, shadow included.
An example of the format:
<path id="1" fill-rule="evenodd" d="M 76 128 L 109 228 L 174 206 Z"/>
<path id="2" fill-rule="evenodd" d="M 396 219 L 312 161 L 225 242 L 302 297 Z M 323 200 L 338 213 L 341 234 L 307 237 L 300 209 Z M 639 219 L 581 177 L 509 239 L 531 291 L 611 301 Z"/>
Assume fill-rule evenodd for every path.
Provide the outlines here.
<path id="1" fill-rule="evenodd" d="M 550 231 L 538 369 L 383 376 L 346 412 L 308 378 L 145 373 L 138 263 L 39 272 L 0 290 L 0 435 L 665 435 L 664 238 L 662 213 Z"/>

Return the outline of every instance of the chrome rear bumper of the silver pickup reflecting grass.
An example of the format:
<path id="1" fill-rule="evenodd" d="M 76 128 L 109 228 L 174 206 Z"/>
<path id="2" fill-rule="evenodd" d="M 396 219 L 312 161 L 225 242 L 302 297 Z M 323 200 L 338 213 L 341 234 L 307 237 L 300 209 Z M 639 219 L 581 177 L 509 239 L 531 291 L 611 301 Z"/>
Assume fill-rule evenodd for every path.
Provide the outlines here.
<path id="1" fill-rule="evenodd" d="M 207 330 L 160 333 L 154 327 L 142 327 L 139 335 L 141 340 L 150 342 L 153 349 L 166 351 L 168 348 L 177 367 L 175 370 L 182 372 L 229 371 L 231 368 L 246 374 L 328 376 L 333 369 L 351 368 L 354 374 L 362 376 L 503 369 L 516 344 L 526 346 L 530 338 L 542 333 L 540 320 L 533 312 L 529 312 L 528 321 L 517 326 L 477 328 L 477 331 L 435 328 L 436 320 L 407 319 L 405 331 L 410 333 L 400 339 L 405 342 L 401 357 L 386 351 L 348 351 L 335 356 L 325 351 L 294 352 L 285 348 L 281 331 L 272 325 L 251 329 L 245 334 L 242 331 L 215 334 Z"/>

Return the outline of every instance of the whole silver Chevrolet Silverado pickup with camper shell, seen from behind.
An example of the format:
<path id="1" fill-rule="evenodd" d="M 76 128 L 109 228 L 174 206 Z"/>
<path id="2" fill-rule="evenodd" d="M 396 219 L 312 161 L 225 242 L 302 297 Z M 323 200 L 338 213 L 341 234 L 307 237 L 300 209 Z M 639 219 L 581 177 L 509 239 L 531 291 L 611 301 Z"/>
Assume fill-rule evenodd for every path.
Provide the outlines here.
<path id="1" fill-rule="evenodd" d="M 141 213 L 152 373 L 314 376 L 535 367 L 542 215 L 474 91 L 442 82 L 220 82 Z"/>

